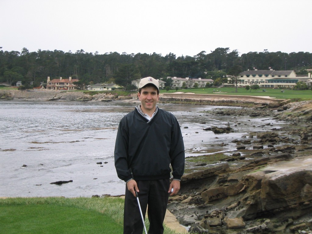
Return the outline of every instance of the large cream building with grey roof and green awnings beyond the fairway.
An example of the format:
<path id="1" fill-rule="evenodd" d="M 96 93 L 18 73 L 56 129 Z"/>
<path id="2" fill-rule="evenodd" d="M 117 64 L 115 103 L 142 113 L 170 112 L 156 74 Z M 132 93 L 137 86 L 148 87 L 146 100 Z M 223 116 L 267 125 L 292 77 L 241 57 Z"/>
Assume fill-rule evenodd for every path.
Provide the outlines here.
<path id="1" fill-rule="evenodd" d="M 309 78 L 310 77 L 310 78 Z M 239 74 L 237 86 L 259 85 L 261 88 L 293 88 L 299 81 L 309 82 L 311 73 L 300 77 L 295 71 L 248 70 Z"/>

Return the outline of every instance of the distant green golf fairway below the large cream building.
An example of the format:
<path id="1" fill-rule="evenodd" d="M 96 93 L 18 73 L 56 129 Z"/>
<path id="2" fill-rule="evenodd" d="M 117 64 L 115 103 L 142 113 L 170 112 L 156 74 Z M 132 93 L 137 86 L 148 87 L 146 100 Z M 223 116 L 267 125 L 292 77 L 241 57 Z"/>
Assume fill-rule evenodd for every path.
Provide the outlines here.
<path id="1" fill-rule="evenodd" d="M 215 92 L 213 92 L 215 90 Z M 218 90 L 218 92 L 217 92 Z M 221 92 L 219 93 L 219 91 Z M 197 89 L 179 89 L 177 90 L 160 90 L 160 93 L 174 93 L 174 92 L 183 92 L 183 93 L 195 93 L 195 94 L 222 94 L 222 95 L 250 95 L 250 96 L 270 96 L 276 99 L 292 99 L 296 101 L 302 100 L 312 100 L 312 91 L 311 90 L 290 90 L 284 89 L 284 93 L 281 92 L 281 89 L 271 89 L 265 88 L 265 92 L 260 90 L 246 90 L 245 88 L 237 88 L 237 93 L 235 88 L 197 88 Z M 232 92 L 233 91 L 233 92 Z"/>

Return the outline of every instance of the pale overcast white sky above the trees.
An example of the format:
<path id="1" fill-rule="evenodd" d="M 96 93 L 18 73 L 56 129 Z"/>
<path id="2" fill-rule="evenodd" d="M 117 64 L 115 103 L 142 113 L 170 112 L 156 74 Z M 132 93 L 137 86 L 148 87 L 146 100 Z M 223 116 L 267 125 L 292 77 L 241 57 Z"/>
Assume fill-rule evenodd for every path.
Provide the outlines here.
<path id="1" fill-rule="evenodd" d="M 311 0 L 0 0 L 0 6 L 3 51 L 312 52 Z"/>

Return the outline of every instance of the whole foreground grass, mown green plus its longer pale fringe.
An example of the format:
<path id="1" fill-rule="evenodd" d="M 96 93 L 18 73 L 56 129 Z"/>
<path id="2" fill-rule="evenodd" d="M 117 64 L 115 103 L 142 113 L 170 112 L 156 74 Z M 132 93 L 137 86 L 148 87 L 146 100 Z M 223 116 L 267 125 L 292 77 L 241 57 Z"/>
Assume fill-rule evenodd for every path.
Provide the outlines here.
<path id="1" fill-rule="evenodd" d="M 115 197 L 0 199 L 0 233 L 119 234 L 123 232 L 123 209 L 124 200 Z M 175 234 L 168 227 L 164 233 Z"/>

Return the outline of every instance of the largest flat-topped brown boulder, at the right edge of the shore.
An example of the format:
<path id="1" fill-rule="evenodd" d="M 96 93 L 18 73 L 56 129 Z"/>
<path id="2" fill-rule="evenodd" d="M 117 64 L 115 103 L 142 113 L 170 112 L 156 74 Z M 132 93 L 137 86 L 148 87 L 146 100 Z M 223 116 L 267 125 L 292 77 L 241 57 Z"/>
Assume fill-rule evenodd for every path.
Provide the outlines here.
<path id="1" fill-rule="evenodd" d="M 252 219 L 261 214 L 294 210 L 296 215 L 312 207 L 312 159 L 298 158 L 268 165 L 247 174 L 242 183 L 248 197 L 241 199 L 236 217 Z"/>

